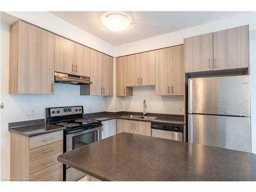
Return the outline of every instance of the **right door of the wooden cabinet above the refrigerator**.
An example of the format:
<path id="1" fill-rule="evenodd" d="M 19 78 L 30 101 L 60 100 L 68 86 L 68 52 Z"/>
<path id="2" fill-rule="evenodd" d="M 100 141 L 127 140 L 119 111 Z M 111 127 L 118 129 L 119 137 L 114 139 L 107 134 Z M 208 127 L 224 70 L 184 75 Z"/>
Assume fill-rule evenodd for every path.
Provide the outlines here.
<path id="1" fill-rule="evenodd" d="M 214 33 L 214 70 L 249 67 L 249 26 Z"/>

